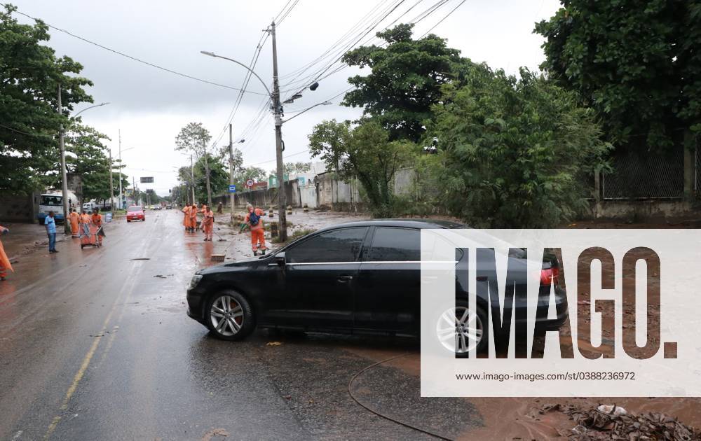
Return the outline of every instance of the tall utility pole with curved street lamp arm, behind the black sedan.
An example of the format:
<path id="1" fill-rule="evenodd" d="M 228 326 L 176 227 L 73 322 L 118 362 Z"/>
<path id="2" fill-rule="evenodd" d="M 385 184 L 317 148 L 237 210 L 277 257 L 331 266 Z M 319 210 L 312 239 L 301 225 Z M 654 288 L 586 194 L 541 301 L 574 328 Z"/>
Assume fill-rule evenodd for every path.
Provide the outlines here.
<path id="1" fill-rule="evenodd" d="M 270 89 L 268 89 L 268 85 L 266 85 L 265 81 L 260 76 L 258 76 L 257 73 L 255 73 L 252 69 L 250 69 L 250 67 L 246 66 L 242 62 L 238 62 L 236 61 L 236 59 L 232 59 L 229 57 L 222 57 L 222 55 L 217 55 L 215 54 L 215 52 L 210 52 L 207 50 L 200 50 L 200 53 L 209 57 L 228 59 L 230 62 L 236 63 L 239 66 L 243 67 L 243 69 L 246 69 L 247 71 L 252 73 L 256 78 L 258 78 L 263 87 L 265 87 L 266 92 L 268 92 L 268 97 L 270 97 L 271 101 L 273 102 L 273 114 L 275 116 L 275 160 L 277 162 L 276 175 L 279 186 L 278 218 L 280 222 L 280 228 L 278 230 L 280 232 L 280 240 L 285 241 L 287 239 L 287 217 L 285 216 L 285 181 L 283 179 L 283 169 L 285 167 L 283 164 L 283 109 L 282 105 L 280 104 L 280 85 L 278 83 L 278 43 L 275 38 L 275 22 L 272 22 L 270 27 L 266 30 L 270 32 L 271 39 L 273 41 L 273 92 L 271 92 Z M 319 87 L 319 83 L 314 83 L 309 87 L 309 89 L 316 90 L 317 87 Z M 297 94 L 301 97 L 301 94 L 299 94 L 299 92 Z M 229 126 L 229 132 L 231 132 L 231 125 Z M 231 135 L 229 135 L 229 139 L 229 151 L 231 151 Z"/>

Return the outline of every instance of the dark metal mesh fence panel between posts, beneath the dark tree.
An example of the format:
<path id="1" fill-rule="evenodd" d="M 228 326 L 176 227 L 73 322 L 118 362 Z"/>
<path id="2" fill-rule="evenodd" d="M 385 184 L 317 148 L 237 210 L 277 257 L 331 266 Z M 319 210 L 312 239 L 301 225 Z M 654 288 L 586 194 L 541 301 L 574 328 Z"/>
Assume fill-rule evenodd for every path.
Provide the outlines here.
<path id="1" fill-rule="evenodd" d="M 681 146 L 669 153 L 627 151 L 612 162 L 613 172 L 601 176 L 604 200 L 678 199 L 684 195 Z"/>

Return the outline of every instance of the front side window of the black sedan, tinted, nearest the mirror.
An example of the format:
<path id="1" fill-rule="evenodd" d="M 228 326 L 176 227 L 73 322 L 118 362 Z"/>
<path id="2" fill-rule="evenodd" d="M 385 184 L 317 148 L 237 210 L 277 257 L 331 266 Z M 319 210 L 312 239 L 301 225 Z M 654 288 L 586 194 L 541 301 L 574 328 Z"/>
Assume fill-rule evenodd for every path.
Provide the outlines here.
<path id="1" fill-rule="evenodd" d="M 355 262 L 366 232 L 367 227 L 323 232 L 285 251 L 287 263 Z"/>

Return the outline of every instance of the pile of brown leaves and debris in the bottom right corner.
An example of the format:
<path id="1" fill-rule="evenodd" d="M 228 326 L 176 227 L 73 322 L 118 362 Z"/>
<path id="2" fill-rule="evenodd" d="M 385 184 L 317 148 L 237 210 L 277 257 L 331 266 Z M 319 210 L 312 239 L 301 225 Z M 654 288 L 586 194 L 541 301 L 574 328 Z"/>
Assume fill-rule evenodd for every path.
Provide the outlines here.
<path id="1" fill-rule="evenodd" d="M 695 428 L 656 412 L 636 415 L 616 405 L 599 405 L 590 409 L 574 405 L 546 405 L 542 411 L 564 412 L 577 423 L 571 429 L 570 440 L 701 440 L 701 432 Z"/>

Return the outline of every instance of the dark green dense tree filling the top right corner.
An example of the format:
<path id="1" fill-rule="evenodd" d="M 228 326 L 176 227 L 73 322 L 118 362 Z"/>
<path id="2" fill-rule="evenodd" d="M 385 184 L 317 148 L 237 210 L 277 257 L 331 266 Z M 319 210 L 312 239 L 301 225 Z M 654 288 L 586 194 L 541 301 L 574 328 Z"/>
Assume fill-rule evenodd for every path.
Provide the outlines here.
<path id="1" fill-rule="evenodd" d="M 667 148 L 675 130 L 700 122 L 701 3 L 563 3 L 536 24 L 541 68 L 597 110 L 609 140 Z"/>

